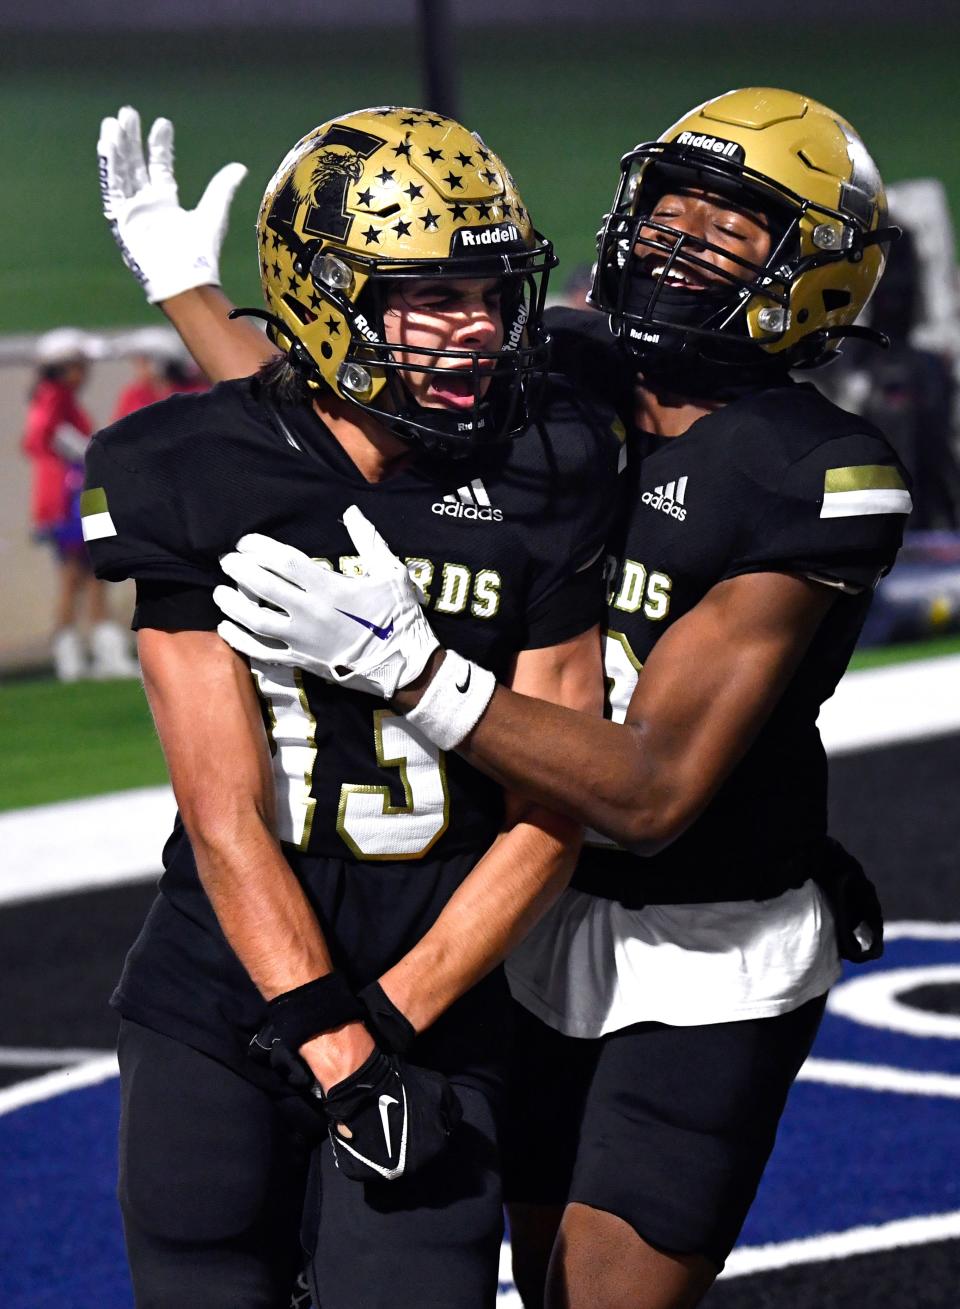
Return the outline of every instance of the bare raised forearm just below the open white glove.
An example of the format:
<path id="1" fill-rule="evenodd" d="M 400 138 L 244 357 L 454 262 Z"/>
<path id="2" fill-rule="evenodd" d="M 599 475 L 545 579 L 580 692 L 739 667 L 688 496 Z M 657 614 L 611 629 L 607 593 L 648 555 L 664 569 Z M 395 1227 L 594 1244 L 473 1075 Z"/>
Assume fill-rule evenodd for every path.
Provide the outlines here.
<path id="1" fill-rule="evenodd" d="M 279 353 L 251 319 L 228 317 L 233 305 L 219 287 L 195 287 L 160 308 L 211 382 L 249 377 Z"/>

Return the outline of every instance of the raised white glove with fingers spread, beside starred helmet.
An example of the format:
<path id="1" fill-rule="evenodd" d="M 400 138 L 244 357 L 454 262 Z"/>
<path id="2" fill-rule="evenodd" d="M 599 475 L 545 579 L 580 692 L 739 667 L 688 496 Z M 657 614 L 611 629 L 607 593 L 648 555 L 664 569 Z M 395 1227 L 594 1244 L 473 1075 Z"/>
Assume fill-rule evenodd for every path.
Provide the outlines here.
<path id="1" fill-rule="evenodd" d="M 196 208 L 183 209 L 173 173 L 173 123 L 153 123 L 144 161 L 140 115 L 130 105 L 100 124 L 97 157 L 103 217 L 149 302 L 219 285 L 220 246 L 246 168 L 227 164 Z"/>

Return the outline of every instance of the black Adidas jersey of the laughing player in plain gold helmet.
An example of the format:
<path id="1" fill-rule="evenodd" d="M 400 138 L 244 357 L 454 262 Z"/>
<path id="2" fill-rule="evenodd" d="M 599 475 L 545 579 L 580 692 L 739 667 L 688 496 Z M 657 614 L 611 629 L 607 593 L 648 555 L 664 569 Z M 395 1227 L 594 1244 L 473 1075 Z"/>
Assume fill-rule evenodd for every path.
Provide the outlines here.
<path id="1" fill-rule="evenodd" d="M 837 600 L 779 704 L 705 813 L 637 863 L 596 838 L 575 885 L 625 903 L 766 898 L 809 876 L 826 830 L 816 719 L 840 681 L 910 495 L 891 445 L 808 385 L 754 391 L 686 433 L 629 437 L 610 539 L 608 712 L 622 720 L 663 632 L 716 583 L 790 572 Z"/>

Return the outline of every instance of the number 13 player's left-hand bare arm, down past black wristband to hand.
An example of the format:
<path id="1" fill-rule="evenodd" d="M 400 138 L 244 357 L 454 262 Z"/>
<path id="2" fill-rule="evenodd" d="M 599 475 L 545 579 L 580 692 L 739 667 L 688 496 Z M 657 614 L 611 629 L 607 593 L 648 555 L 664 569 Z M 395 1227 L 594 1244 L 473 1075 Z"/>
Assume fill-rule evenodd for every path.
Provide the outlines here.
<path id="1" fill-rule="evenodd" d="M 144 686 L 203 889 L 265 1000 L 333 969 L 320 923 L 274 834 L 274 788 L 250 672 L 216 632 L 144 630 Z M 360 1024 L 303 1047 L 339 1080 L 369 1054 Z"/>

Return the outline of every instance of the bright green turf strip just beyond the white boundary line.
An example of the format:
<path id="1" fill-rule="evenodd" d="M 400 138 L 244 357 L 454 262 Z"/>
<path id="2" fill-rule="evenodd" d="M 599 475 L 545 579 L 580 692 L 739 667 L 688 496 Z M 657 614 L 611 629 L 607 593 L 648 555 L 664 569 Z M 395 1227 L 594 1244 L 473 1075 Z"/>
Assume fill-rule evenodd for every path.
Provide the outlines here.
<path id="1" fill-rule="evenodd" d="M 960 653 L 960 636 L 862 651 L 851 668 Z M 0 686 L 0 809 L 166 780 L 139 682 Z"/>

